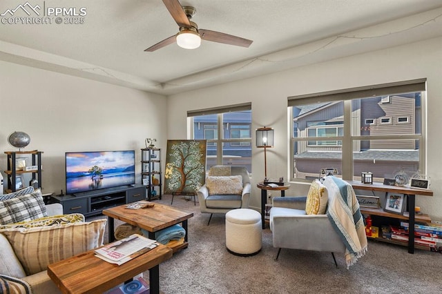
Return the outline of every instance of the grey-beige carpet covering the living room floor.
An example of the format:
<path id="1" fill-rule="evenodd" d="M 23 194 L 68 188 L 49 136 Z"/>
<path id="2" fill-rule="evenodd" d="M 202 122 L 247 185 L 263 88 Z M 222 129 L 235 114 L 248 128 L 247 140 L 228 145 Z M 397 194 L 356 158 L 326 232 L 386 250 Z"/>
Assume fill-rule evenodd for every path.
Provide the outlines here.
<path id="1" fill-rule="evenodd" d="M 163 195 L 162 204 L 171 204 Z M 200 213 L 198 203 L 174 197 L 173 206 L 194 213 L 189 248 L 160 264 L 164 293 L 442 293 L 442 254 L 369 241 L 368 253 L 347 270 L 343 255 L 282 249 L 275 261 L 271 231 L 262 232 L 262 251 L 252 257 L 225 248 L 224 215 Z M 144 274 L 148 279 L 148 273 Z"/>

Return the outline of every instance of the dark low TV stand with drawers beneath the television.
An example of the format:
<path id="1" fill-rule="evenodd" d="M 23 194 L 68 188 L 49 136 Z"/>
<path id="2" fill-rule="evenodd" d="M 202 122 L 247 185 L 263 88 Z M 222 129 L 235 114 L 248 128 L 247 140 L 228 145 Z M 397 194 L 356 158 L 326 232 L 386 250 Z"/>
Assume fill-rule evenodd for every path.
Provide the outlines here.
<path id="1" fill-rule="evenodd" d="M 81 213 L 88 217 L 99 215 L 106 208 L 146 199 L 146 187 L 135 184 L 51 197 L 63 205 L 64 214 Z"/>

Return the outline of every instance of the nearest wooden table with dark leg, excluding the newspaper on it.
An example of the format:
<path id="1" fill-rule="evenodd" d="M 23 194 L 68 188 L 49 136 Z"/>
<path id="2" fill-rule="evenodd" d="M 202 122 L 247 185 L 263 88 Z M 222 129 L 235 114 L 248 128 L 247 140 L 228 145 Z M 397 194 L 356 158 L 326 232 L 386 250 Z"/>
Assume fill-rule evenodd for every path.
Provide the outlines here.
<path id="1" fill-rule="evenodd" d="M 150 293 L 160 293 L 159 264 L 172 257 L 162 244 L 117 266 L 95 257 L 94 250 L 48 265 L 48 275 L 61 293 L 103 293 L 149 271 Z"/>

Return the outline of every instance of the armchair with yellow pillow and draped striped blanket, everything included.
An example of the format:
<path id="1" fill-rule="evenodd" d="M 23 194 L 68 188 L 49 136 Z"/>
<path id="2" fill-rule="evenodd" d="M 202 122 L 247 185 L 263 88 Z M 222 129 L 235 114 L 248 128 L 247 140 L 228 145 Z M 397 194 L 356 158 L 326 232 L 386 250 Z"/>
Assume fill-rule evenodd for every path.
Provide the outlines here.
<path id="1" fill-rule="evenodd" d="M 273 247 L 345 253 L 348 266 L 367 251 L 359 204 L 351 185 L 330 176 L 311 183 L 307 197 L 273 197 Z"/>

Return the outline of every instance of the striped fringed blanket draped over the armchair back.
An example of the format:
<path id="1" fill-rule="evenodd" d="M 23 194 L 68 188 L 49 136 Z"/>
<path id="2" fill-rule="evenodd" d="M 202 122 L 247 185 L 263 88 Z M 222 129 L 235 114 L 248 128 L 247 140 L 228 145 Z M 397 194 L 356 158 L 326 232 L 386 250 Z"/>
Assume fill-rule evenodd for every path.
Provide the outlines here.
<path id="1" fill-rule="evenodd" d="M 367 252 L 367 237 L 358 199 L 352 186 L 338 177 L 326 177 L 324 186 L 329 194 L 327 217 L 347 248 L 345 262 L 349 268 Z M 330 199 L 330 195 L 334 197 Z"/>

